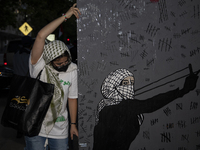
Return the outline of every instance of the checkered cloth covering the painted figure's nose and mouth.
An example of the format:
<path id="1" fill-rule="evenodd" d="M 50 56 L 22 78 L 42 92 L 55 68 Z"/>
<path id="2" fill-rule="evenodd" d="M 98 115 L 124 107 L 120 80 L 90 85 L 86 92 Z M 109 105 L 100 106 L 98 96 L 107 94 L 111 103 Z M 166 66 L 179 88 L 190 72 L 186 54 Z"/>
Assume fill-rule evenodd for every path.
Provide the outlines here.
<path id="1" fill-rule="evenodd" d="M 133 85 L 120 85 L 116 89 L 124 99 L 134 99 Z"/>

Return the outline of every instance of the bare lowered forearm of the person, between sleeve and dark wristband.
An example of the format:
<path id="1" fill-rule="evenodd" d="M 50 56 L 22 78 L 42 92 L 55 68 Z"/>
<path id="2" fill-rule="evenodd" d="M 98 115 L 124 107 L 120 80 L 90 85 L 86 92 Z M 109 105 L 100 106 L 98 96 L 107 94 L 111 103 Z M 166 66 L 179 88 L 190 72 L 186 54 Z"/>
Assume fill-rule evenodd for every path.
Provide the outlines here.
<path id="1" fill-rule="evenodd" d="M 76 123 L 77 117 L 77 99 L 68 99 L 69 113 L 71 118 L 71 123 Z"/>

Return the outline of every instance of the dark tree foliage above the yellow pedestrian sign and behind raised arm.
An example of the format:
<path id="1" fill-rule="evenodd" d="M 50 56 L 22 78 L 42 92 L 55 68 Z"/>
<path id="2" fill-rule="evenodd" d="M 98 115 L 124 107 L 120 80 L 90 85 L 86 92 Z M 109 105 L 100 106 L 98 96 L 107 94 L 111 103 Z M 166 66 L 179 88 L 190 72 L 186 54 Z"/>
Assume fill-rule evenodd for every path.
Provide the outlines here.
<path id="1" fill-rule="evenodd" d="M 4 29 L 7 25 L 19 28 L 17 22 L 22 25 L 26 21 L 33 28 L 32 35 L 35 37 L 42 27 L 66 13 L 74 3 L 70 0 L 0 0 L 0 28 Z M 21 16 L 21 20 L 17 16 Z M 63 28 L 65 37 L 76 38 L 74 16 L 63 23 Z M 58 35 L 58 29 L 54 34 Z"/>

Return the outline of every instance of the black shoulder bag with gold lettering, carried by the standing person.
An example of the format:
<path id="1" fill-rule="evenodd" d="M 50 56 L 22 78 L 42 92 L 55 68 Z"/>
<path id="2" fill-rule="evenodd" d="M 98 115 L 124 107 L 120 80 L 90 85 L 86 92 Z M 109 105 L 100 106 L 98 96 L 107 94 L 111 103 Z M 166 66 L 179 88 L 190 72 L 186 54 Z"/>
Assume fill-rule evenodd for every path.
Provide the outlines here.
<path id="1" fill-rule="evenodd" d="M 26 136 L 39 134 L 54 94 L 54 85 L 37 78 L 14 75 L 1 124 Z"/>

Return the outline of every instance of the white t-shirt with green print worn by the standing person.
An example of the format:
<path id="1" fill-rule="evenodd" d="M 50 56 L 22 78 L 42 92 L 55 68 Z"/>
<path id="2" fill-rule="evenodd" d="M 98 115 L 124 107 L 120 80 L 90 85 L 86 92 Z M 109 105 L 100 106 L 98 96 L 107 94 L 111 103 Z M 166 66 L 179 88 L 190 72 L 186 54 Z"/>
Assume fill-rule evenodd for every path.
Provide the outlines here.
<path id="1" fill-rule="evenodd" d="M 45 66 L 45 61 L 42 58 L 42 56 L 40 57 L 38 62 L 34 65 L 31 64 L 31 57 L 30 57 L 29 59 L 30 76 L 32 78 L 36 78 L 38 73 L 44 68 L 44 66 Z M 59 72 L 59 80 L 64 90 L 64 101 L 60 115 L 57 118 L 57 121 L 55 122 L 55 125 L 53 129 L 50 131 L 50 133 L 47 135 L 45 133 L 45 127 L 42 125 L 39 136 L 55 138 L 55 139 L 63 139 L 68 137 L 69 125 L 68 125 L 67 99 L 78 98 L 77 66 L 76 64 L 71 63 L 69 68 L 75 68 L 75 69 L 72 69 L 71 72 Z M 45 72 L 46 72 L 45 70 L 42 71 L 40 77 L 41 81 L 44 81 L 44 78 L 46 76 Z"/>

